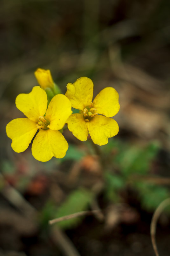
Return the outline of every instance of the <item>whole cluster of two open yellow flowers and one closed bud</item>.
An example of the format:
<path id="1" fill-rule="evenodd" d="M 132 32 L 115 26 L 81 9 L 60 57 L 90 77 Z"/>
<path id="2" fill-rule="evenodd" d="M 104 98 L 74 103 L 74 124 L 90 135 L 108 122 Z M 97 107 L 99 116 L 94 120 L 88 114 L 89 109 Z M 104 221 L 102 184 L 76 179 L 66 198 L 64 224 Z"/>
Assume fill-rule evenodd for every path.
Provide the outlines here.
<path id="1" fill-rule="evenodd" d="M 87 140 L 90 134 L 99 145 L 107 144 L 108 138 L 118 133 L 118 124 L 111 118 L 119 111 L 119 94 L 114 88 L 101 90 L 92 102 L 93 83 L 87 77 L 68 83 L 63 95 L 58 93 L 50 70 L 37 69 L 35 76 L 40 87 L 35 86 L 30 93 L 16 98 L 17 108 L 26 117 L 14 119 L 6 126 L 14 151 L 25 151 L 36 135 L 31 148 L 35 159 L 45 162 L 53 156 L 63 158 L 68 149 L 61 132 L 65 123 L 79 140 Z M 71 107 L 80 110 L 79 113 L 72 114 Z"/>

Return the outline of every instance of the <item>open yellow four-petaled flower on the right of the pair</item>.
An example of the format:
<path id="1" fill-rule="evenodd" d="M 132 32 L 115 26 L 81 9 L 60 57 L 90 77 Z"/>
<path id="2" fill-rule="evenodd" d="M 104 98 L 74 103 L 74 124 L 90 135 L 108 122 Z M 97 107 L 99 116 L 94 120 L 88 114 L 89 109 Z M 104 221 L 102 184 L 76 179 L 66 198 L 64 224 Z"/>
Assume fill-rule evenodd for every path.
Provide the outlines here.
<path id="1" fill-rule="evenodd" d="M 119 94 L 114 88 L 101 90 L 92 102 L 93 82 L 87 77 L 80 77 L 75 83 L 67 84 L 65 96 L 73 108 L 81 110 L 81 113 L 72 114 L 66 121 L 68 129 L 76 138 L 85 141 L 90 133 L 92 141 L 101 146 L 118 133 L 117 122 L 110 118 L 120 108 Z"/>

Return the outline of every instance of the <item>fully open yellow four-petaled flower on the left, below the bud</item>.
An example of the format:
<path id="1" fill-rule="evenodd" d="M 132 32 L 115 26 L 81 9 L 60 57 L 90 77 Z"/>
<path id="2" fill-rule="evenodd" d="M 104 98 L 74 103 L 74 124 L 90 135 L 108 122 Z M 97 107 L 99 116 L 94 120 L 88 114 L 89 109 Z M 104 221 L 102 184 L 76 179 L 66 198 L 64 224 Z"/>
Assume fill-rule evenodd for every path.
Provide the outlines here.
<path id="1" fill-rule="evenodd" d="M 71 115 L 71 103 L 63 94 L 52 98 L 47 109 L 46 92 L 39 86 L 33 87 L 28 94 L 19 94 L 16 106 L 27 118 L 17 118 L 6 126 L 7 136 L 12 139 L 11 147 L 16 152 L 23 152 L 32 143 L 32 155 L 45 162 L 53 156 L 63 158 L 68 143 L 60 133 L 67 118 Z"/>

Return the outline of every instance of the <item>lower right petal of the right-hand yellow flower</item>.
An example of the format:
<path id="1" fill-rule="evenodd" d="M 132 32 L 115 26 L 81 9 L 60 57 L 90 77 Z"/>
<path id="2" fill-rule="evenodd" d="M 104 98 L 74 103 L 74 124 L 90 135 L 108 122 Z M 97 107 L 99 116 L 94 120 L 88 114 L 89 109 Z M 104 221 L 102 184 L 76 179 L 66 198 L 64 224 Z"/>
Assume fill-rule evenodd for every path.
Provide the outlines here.
<path id="1" fill-rule="evenodd" d="M 93 117 L 87 125 L 92 141 L 100 146 L 107 144 L 108 138 L 115 136 L 119 131 L 115 120 L 100 115 Z"/>

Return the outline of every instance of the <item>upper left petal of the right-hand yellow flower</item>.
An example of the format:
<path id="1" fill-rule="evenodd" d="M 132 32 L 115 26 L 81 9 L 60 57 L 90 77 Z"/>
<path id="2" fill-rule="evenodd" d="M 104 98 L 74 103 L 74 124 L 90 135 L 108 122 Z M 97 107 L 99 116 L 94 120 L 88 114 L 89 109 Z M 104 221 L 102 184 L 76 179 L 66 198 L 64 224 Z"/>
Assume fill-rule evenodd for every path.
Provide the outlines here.
<path id="1" fill-rule="evenodd" d="M 93 82 L 90 78 L 80 77 L 76 82 L 67 84 L 65 96 L 71 101 L 73 108 L 84 110 L 91 104 L 93 97 Z"/>

